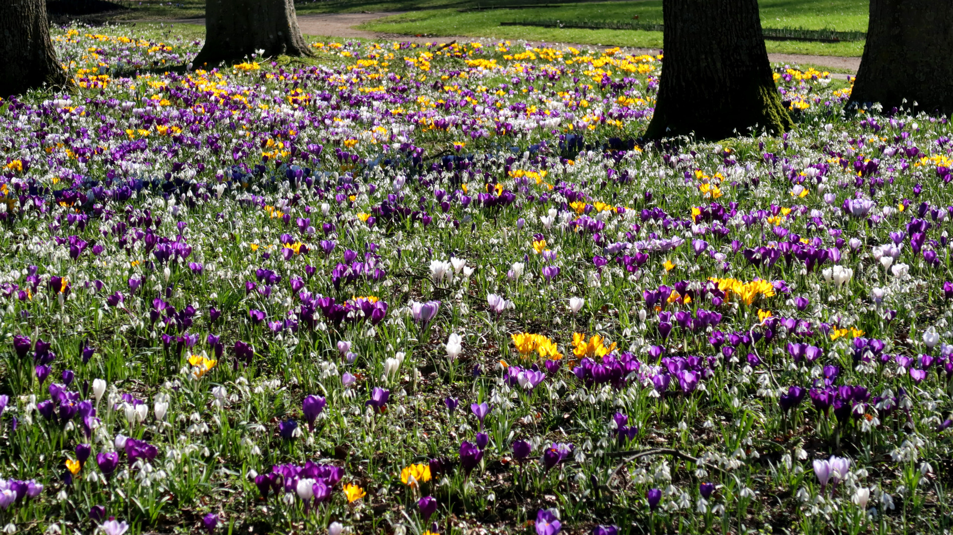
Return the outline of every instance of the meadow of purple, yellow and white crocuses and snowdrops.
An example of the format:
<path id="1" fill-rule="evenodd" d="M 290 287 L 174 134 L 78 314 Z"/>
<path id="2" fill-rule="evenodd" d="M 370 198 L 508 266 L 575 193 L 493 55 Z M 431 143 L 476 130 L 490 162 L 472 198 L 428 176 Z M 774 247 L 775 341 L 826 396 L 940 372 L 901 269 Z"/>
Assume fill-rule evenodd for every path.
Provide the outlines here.
<path id="1" fill-rule="evenodd" d="M 54 45 L 0 101 L 5 533 L 948 529 L 945 118 L 785 67 L 795 131 L 642 144 L 661 56 Z"/>

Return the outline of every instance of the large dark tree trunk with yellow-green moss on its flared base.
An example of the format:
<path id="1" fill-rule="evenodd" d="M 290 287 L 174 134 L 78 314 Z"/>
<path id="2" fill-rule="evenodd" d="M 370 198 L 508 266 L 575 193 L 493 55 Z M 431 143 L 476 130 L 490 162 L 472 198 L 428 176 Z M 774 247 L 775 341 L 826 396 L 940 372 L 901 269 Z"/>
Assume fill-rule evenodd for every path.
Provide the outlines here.
<path id="1" fill-rule="evenodd" d="M 722 139 L 793 126 L 761 36 L 758 0 L 662 0 L 659 98 L 645 136 Z"/>

